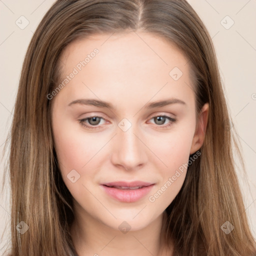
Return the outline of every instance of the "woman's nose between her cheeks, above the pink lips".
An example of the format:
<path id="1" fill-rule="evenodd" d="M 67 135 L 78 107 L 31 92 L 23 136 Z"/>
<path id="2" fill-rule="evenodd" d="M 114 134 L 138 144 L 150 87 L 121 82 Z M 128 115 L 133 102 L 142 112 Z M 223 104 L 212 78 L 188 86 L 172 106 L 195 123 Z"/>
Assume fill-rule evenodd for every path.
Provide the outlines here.
<path id="1" fill-rule="evenodd" d="M 147 161 L 146 145 L 141 133 L 135 125 L 123 131 L 117 127 L 117 134 L 113 138 L 111 161 L 114 165 L 122 166 L 126 170 L 140 168 Z"/>

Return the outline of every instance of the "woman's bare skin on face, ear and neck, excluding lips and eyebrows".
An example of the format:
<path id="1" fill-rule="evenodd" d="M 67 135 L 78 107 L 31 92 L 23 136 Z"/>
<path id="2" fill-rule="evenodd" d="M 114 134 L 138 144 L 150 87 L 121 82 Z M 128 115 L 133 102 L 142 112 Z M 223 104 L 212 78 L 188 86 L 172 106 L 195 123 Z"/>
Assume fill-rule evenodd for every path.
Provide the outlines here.
<path id="1" fill-rule="evenodd" d="M 179 192 L 186 169 L 155 201 L 148 197 L 201 147 L 208 104 L 202 107 L 196 123 L 187 59 L 169 42 L 142 31 L 109 36 L 79 39 L 64 49 L 60 57 L 63 78 L 94 48 L 99 52 L 52 99 L 57 159 L 63 181 L 74 198 L 72 239 L 80 256 L 112 256 L 116 252 L 122 256 L 170 255 L 172 245 L 167 248 L 163 242 L 161 226 L 166 217 L 164 210 Z M 169 75 L 175 66 L 183 73 L 176 81 Z M 113 109 L 68 105 L 81 98 L 108 101 Z M 145 108 L 147 103 L 168 98 L 185 104 Z M 160 123 L 153 118 L 159 114 L 176 121 L 165 118 Z M 79 123 L 92 116 L 103 119 L 97 124 L 85 120 L 91 129 Z M 118 126 L 123 118 L 131 124 L 126 131 Z M 162 128 L 164 125 L 166 128 Z M 72 169 L 80 175 L 74 183 L 67 177 Z M 120 202 L 100 186 L 117 180 L 142 180 L 155 185 L 136 202 Z M 118 228 L 123 221 L 130 226 L 127 233 Z"/>

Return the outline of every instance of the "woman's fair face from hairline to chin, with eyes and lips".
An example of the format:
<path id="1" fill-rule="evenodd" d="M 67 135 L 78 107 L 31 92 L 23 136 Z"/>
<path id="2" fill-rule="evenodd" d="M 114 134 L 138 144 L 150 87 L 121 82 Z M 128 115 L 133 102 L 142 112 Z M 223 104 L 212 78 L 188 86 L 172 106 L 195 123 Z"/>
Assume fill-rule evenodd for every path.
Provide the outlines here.
<path id="1" fill-rule="evenodd" d="M 76 214 L 114 229 L 148 225 L 202 143 L 187 59 L 160 37 L 131 32 L 72 42 L 61 63 L 62 86 L 48 98 Z"/>

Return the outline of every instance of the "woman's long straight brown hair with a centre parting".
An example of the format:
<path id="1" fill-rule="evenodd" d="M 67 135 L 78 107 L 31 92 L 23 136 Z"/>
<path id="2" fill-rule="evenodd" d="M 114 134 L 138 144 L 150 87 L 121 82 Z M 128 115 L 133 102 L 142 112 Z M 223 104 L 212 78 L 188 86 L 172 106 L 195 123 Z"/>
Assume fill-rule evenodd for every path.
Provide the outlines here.
<path id="1" fill-rule="evenodd" d="M 67 44 L 124 30 L 147 31 L 175 44 L 194 73 L 197 112 L 209 103 L 200 157 L 189 164 L 166 208 L 166 241 L 174 241 L 174 255 L 256 255 L 214 48 L 185 0 L 57 0 L 46 12 L 25 55 L 10 132 L 10 255 L 72 255 L 72 196 L 57 165 L 47 95 L 60 81 L 59 56 Z M 22 235 L 16 230 L 20 221 L 29 227 Z M 228 234 L 221 228 L 226 221 L 234 227 Z"/>

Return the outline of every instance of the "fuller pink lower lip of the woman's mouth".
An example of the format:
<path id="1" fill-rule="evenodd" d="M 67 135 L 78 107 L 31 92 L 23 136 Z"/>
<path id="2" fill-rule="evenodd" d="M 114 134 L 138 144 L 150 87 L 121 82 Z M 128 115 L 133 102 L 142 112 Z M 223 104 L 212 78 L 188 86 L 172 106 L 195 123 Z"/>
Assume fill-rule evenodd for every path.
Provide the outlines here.
<path id="1" fill-rule="evenodd" d="M 144 186 L 138 189 L 120 189 L 115 187 L 103 186 L 105 192 L 111 197 L 121 202 L 135 202 L 144 197 L 153 187 L 154 184 Z"/>

